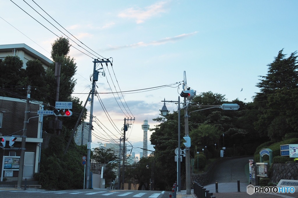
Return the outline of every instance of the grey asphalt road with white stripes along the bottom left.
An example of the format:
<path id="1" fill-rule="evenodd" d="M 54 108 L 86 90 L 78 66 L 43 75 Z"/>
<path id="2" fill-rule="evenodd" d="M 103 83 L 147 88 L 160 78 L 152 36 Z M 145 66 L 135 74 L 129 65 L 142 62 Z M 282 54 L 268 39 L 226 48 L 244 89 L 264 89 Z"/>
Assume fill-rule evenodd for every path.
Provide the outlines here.
<path id="1" fill-rule="evenodd" d="M 168 197 L 169 192 L 165 191 L 133 191 L 133 190 L 67 190 L 67 191 L 17 191 L 17 190 L 3 190 L 0 191 L 1 197 L 55 197 L 55 198 L 88 198 L 88 197 L 108 197 L 108 198 L 162 198 Z"/>

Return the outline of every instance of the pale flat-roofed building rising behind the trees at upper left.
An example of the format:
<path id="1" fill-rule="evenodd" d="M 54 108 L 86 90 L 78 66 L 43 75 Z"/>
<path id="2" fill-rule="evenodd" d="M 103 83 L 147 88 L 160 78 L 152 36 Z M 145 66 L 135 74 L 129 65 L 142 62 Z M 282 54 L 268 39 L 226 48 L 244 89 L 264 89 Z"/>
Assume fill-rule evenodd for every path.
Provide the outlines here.
<path id="1" fill-rule="evenodd" d="M 26 68 L 27 61 L 40 60 L 44 69 L 48 69 L 52 64 L 52 60 L 46 58 L 38 51 L 32 49 L 28 45 L 22 44 L 7 44 L 0 45 L 0 59 L 4 59 L 6 56 L 18 56 L 23 61 L 23 68 Z"/>

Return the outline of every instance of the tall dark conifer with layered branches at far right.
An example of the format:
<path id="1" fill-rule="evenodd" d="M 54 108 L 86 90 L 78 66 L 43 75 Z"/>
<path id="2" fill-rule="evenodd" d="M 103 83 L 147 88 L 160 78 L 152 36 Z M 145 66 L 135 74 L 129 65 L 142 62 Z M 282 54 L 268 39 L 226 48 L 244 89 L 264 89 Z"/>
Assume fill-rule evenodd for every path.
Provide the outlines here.
<path id="1" fill-rule="evenodd" d="M 281 140 L 285 133 L 294 131 L 291 126 L 288 127 L 288 122 L 293 116 L 289 113 L 291 110 L 288 104 L 295 97 L 292 92 L 298 88 L 298 56 L 296 54 L 297 52 L 293 52 L 285 58 L 283 49 L 280 50 L 274 61 L 268 64 L 268 74 L 260 76 L 263 78 L 257 83 L 260 92 L 254 96 L 254 103 L 262 112 L 257 122 L 254 123 L 260 137 L 269 136 L 271 140 Z M 293 103 L 292 105 L 296 106 Z"/>

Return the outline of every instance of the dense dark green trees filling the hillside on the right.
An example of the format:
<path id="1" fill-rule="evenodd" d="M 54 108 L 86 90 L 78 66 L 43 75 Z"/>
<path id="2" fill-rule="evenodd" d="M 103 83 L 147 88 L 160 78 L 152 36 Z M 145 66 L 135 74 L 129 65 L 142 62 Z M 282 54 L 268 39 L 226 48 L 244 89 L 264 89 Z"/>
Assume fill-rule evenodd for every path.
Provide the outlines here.
<path id="1" fill-rule="evenodd" d="M 268 74 L 262 78 L 257 87 L 260 92 L 253 97 L 254 101 L 245 103 L 236 98 L 226 101 L 225 95 L 219 93 L 202 92 L 196 95 L 188 108 L 189 136 L 191 137 L 190 157 L 197 160 L 197 151 L 208 158 L 219 157 L 219 150 L 226 147 L 225 156 L 253 155 L 262 148 L 270 148 L 274 156 L 280 155 L 279 145 L 283 143 L 298 143 L 298 64 L 296 52 L 286 58 L 283 50 L 268 64 Z M 203 109 L 205 105 L 221 105 L 223 103 L 237 103 L 237 111 L 223 111 L 221 109 Z M 201 107 L 199 107 L 201 106 Z M 207 108 L 205 106 L 205 108 Z M 190 113 L 192 112 L 192 113 Z M 181 117 L 184 109 L 181 109 Z M 171 188 L 176 181 L 176 164 L 174 150 L 178 144 L 178 112 L 169 113 L 166 117 L 153 119 L 159 122 L 153 131 L 150 141 L 155 148 L 157 165 L 164 170 L 159 179 L 163 180 L 163 188 Z M 181 123 L 181 149 L 184 148 L 183 129 Z M 286 138 L 286 141 L 282 141 Z M 280 142 L 281 141 L 281 142 Z M 275 144 L 274 144 L 275 143 Z M 215 146 L 216 144 L 216 146 Z M 255 160 L 256 157 L 255 157 Z M 264 159 L 265 160 L 265 159 Z M 185 162 L 181 163 L 181 182 L 185 178 Z"/>

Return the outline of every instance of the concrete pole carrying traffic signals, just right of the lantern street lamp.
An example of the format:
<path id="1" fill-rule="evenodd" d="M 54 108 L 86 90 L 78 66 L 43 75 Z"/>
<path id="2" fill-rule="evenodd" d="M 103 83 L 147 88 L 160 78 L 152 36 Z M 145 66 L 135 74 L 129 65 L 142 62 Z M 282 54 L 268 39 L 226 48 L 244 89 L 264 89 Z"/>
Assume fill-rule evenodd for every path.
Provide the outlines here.
<path id="1" fill-rule="evenodd" d="M 186 105 L 184 110 L 184 130 L 185 130 L 185 136 L 188 136 L 188 114 L 187 114 L 187 108 L 189 103 L 186 103 L 186 98 L 184 98 L 184 104 Z M 191 188 L 190 188 L 190 154 L 189 149 L 185 148 L 185 171 L 186 171 L 186 194 L 191 194 Z"/>

